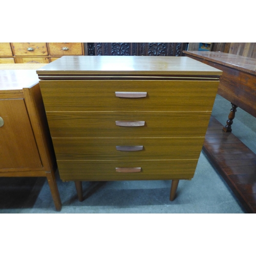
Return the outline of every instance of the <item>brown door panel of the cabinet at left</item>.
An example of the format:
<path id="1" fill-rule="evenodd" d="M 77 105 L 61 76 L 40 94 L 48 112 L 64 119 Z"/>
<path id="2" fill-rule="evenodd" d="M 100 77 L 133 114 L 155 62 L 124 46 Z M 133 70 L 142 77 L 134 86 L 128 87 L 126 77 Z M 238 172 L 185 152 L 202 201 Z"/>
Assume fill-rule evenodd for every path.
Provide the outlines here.
<path id="1" fill-rule="evenodd" d="M 0 100 L 0 172 L 42 166 L 24 99 Z"/>

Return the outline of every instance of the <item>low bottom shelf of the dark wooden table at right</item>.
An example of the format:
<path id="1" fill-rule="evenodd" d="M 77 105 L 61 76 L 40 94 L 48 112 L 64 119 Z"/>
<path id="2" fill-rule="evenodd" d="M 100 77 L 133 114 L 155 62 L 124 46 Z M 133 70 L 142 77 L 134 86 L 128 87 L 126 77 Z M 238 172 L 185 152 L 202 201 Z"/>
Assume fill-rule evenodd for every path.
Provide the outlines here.
<path id="1" fill-rule="evenodd" d="M 203 151 L 249 213 L 256 213 L 256 155 L 211 117 Z"/>

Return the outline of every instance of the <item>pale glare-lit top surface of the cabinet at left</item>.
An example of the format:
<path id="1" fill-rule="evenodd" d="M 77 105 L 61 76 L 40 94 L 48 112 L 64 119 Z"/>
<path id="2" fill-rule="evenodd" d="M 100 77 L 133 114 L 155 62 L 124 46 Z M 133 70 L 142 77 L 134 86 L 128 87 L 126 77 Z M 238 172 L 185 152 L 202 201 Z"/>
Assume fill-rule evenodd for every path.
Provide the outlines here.
<path id="1" fill-rule="evenodd" d="M 30 88 L 38 81 L 35 70 L 0 70 L 0 91 Z"/>

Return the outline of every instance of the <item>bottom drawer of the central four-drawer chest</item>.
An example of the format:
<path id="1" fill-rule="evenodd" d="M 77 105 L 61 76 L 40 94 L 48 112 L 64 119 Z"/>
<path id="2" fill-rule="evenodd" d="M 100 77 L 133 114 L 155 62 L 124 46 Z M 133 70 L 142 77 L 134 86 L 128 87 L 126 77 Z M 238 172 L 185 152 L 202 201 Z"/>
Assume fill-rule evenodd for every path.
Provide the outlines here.
<path id="1" fill-rule="evenodd" d="M 198 160 L 57 161 L 63 181 L 172 180 L 191 179 Z M 120 173 L 116 168 L 138 168 Z"/>

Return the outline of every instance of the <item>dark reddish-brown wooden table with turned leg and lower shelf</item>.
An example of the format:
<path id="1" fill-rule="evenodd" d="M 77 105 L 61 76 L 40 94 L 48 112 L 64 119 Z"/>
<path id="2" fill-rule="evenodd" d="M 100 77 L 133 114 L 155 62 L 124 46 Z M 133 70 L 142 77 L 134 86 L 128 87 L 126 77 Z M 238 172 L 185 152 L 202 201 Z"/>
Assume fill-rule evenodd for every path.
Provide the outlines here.
<path id="1" fill-rule="evenodd" d="M 223 71 L 218 94 L 230 101 L 232 108 L 225 127 L 211 118 L 203 151 L 245 209 L 256 213 L 256 155 L 230 134 L 237 107 L 256 117 L 256 59 L 222 52 L 184 54 Z"/>

